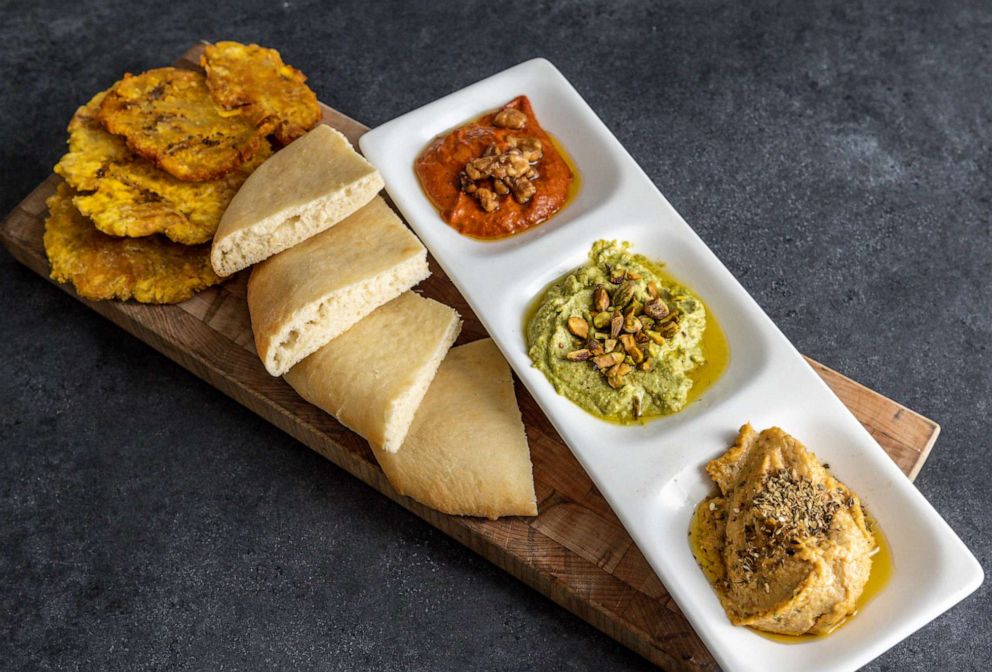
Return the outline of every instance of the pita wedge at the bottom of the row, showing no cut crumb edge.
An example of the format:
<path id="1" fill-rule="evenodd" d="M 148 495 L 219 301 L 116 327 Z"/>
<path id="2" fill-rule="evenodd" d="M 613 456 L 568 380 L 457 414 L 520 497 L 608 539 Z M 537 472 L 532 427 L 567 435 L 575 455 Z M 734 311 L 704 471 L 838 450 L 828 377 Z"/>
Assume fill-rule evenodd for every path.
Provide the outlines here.
<path id="1" fill-rule="evenodd" d="M 453 348 L 399 451 L 373 453 L 397 492 L 432 509 L 491 519 L 537 515 L 510 367 L 491 339 Z"/>

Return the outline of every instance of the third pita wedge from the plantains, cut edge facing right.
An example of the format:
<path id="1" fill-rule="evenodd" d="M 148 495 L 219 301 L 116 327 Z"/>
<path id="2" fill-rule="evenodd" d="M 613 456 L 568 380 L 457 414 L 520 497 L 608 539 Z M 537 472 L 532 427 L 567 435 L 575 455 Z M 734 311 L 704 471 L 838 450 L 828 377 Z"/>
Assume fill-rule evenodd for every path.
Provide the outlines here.
<path id="1" fill-rule="evenodd" d="M 301 397 L 395 453 L 461 331 L 453 308 L 405 292 L 290 369 Z"/>

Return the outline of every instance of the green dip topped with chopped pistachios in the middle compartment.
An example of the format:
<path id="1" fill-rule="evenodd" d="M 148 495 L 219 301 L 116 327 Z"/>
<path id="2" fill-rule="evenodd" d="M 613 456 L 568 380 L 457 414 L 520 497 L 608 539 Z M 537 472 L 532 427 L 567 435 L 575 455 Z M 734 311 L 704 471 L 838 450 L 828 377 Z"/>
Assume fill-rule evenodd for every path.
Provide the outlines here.
<path id="1" fill-rule="evenodd" d="M 600 240 L 552 285 L 526 325 L 531 361 L 595 416 L 644 422 L 685 408 L 705 363 L 706 308 L 660 264 Z"/>

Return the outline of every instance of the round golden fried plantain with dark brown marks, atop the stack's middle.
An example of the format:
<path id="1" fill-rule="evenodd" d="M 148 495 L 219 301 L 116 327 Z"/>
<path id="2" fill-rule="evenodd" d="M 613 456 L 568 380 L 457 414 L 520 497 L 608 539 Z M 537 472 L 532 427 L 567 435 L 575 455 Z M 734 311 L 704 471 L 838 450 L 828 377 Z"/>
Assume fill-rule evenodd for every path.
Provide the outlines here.
<path id="1" fill-rule="evenodd" d="M 250 161 L 276 123 L 256 124 L 222 109 L 202 73 L 179 68 L 125 75 L 100 103 L 98 118 L 131 151 L 193 182 L 218 179 Z"/>

